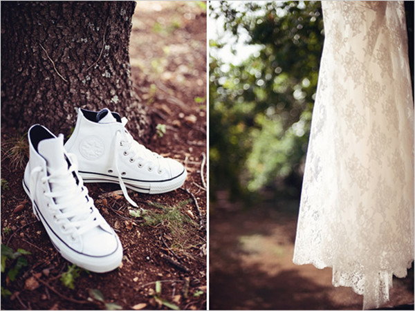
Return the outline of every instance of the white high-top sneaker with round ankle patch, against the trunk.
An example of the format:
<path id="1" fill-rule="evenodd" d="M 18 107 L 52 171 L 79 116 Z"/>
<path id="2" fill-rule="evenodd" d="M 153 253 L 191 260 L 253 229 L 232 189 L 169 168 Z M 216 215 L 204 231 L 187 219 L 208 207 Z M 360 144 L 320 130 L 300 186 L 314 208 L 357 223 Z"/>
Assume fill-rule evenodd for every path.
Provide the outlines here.
<path id="1" fill-rule="evenodd" d="M 162 194 L 181 187 L 187 172 L 176 160 L 163 158 L 136 142 L 118 113 L 78 110 L 75 130 L 66 142 L 75 153 L 84 182 L 117 182 L 131 205 L 127 186 L 138 192 Z"/>

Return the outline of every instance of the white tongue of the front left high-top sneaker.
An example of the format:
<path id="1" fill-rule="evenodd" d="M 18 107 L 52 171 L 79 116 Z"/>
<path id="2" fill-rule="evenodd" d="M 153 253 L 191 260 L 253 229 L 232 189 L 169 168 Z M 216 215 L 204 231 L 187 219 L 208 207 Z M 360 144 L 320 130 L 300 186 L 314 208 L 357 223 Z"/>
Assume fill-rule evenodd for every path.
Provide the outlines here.
<path id="1" fill-rule="evenodd" d="M 49 173 L 62 169 L 62 167 L 67 169 L 68 163 L 64 157 L 64 135 L 59 134 L 57 138 L 41 140 L 37 150 L 46 160 Z"/>

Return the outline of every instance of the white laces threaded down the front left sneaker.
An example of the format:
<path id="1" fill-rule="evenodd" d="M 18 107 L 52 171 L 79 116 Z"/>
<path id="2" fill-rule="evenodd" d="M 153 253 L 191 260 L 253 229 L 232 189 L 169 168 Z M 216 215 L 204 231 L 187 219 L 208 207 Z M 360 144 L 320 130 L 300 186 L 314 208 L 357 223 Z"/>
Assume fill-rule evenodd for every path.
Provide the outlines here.
<path id="1" fill-rule="evenodd" d="M 75 157 L 73 155 L 68 156 L 71 163 L 73 163 Z M 33 197 L 37 186 L 35 175 L 41 171 L 43 171 L 42 167 L 35 167 L 30 172 L 30 198 L 32 204 L 34 204 Z M 94 207 L 92 198 L 88 196 L 88 189 L 84 187 L 82 179 L 79 177 L 79 182 L 75 182 L 73 176 L 75 171 L 75 165 L 71 164 L 68 169 L 63 168 L 41 178 L 43 184 L 49 182 L 50 185 L 53 185 L 53 188 L 59 189 L 44 192 L 44 196 L 55 200 L 55 204 L 48 204 L 48 209 L 53 214 L 56 223 L 62 225 L 62 231 L 65 234 L 71 234 L 73 240 L 75 240 L 75 235 L 80 236 L 100 225 L 98 209 Z M 57 200 L 60 202 L 58 203 Z"/>

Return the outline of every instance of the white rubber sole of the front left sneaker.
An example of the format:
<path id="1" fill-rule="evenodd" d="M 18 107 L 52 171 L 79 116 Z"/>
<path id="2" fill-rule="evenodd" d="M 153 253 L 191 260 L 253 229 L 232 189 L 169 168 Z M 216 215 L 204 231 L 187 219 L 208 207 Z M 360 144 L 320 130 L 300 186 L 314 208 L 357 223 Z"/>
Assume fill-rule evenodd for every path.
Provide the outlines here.
<path id="1" fill-rule="evenodd" d="M 30 191 L 26 187 L 24 180 L 23 188 L 24 191 L 26 191 L 28 197 L 31 199 Z M 120 266 L 122 261 L 122 245 L 120 238 L 118 238 L 117 235 L 117 248 L 111 254 L 106 256 L 90 256 L 82 254 L 69 247 L 64 241 L 62 241 L 61 238 L 59 238 L 59 236 L 57 236 L 57 234 L 55 234 L 55 232 L 53 232 L 53 229 L 48 225 L 42 216 L 42 213 L 39 207 L 37 207 L 36 202 L 33 204 L 33 213 L 35 214 L 37 220 L 40 220 L 42 225 L 44 225 L 46 233 L 48 234 L 53 246 L 67 261 L 74 263 L 78 267 L 82 267 L 85 270 L 97 273 L 110 272 Z"/>

